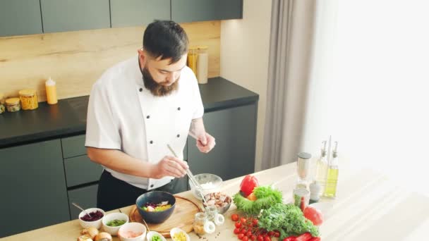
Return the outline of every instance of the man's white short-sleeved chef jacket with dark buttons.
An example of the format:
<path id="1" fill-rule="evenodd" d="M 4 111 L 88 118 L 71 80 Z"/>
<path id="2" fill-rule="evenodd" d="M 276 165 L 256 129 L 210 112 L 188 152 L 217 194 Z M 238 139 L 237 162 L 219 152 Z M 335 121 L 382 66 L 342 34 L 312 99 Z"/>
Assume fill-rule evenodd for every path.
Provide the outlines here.
<path id="1" fill-rule="evenodd" d="M 138 56 L 116 64 L 95 82 L 87 110 L 86 147 L 119 149 L 141 161 L 158 163 L 172 156 L 170 144 L 183 159 L 191 121 L 204 113 L 198 82 L 191 68 L 181 70 L 179 89 L 155 97 L 145 88 Z M 152 190 L 173 178 L 140 178 L 104 167 L 131 185 Z"/>

